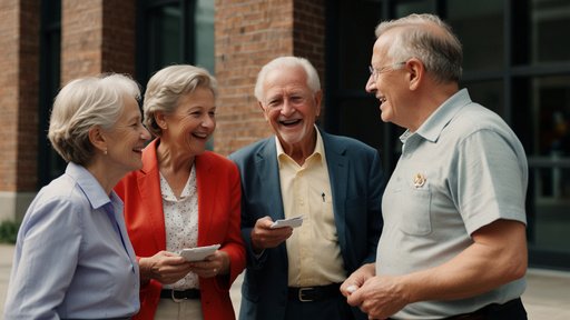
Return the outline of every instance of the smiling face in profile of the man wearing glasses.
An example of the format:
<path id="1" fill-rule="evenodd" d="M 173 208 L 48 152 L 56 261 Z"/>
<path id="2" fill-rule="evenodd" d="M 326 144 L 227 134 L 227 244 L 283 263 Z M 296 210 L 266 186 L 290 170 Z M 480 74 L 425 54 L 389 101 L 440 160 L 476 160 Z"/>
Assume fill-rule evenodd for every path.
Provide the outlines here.
<path id="1" fill-rule="evenodd" d="M 382 121 L 404 127 L 401 118 L 404 117 L 402 108 L 407 88 L 405 69 L 402 69 L 405 61 L 393 61 L 389 58 L 390 42 L 391 36 L 386 33 L 374 43 L 371 60 L 374 72 L 366 82 L 366 91 L 374 93 L 380 100 Z"/>

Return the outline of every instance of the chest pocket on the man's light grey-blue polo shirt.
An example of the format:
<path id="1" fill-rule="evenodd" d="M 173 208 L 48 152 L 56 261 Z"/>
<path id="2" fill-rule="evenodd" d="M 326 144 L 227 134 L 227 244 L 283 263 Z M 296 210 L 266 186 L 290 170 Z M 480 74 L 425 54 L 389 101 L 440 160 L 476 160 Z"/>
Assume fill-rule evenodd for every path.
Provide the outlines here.
<path id="1" fill-rule="evenodd" d="M 421 187 L 402 183 L 394 190 L 394 202 L 397 207 L 392 211 L 399 216 L 400 230 L 411 236 L 425 236 L 432 232 L 431 202 L 432 192 L 428 183 Z"/>

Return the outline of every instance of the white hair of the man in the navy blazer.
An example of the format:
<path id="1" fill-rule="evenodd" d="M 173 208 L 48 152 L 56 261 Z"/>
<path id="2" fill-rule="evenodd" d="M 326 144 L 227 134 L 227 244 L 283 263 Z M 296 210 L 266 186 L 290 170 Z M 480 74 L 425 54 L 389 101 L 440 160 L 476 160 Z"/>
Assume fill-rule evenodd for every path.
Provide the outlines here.
<path id="1" fill-rule="evenodd" d="M 255 98 L 257 98 L 257 101 L 263 101 L 265 98 L 265 92 L 263 92 L 263 86 L 265 82 L 265 78 L 267 77 L 267 73 L 269 71 L 273 71 L 275 69 L 279 69 L 283 67 L 301 67 L 303 70 L 305 70 L 305 73 L 307 76 L 307 86 L 313 91 L 313 93 L 316 93 L 321 90 L 321 80 L 318 79 L 318 73 L 316 72 L 315 67 L 311 64 L 311 62 L 305 58 L 299 57 L 279 57 L 275 58 L 272 61 L 269 61 L 267 64 L 265 64 L 259 73 L 257 74 L 257 81 L 255 82 Z"/>

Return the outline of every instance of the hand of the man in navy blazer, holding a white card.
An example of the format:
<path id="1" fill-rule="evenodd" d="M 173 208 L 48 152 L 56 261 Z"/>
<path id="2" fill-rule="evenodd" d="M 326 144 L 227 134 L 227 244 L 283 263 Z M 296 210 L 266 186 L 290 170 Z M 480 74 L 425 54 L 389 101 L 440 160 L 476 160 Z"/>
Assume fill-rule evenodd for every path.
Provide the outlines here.
<path id="1" fill-rule="evenodd" d="M 293 228 L 284 227 L 272 229 L 272 218 L 264 217 L 255 222 L 252 230 L 252 246 L 254 252 L 259 253 L 265 249 L 275 248 L 293 234 Z"/>

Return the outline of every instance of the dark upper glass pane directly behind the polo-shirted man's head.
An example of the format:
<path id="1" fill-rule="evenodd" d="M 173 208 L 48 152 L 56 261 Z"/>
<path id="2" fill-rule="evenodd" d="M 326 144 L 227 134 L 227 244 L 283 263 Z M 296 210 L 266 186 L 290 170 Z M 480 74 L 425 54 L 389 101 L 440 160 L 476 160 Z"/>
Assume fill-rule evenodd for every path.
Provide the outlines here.
<path id="1" fill-rule="evenodd" d="M 463 44 L 465 71 L 502 68 L 503 8 L 503 0 L 448 1 L 448 22 Z"/>

